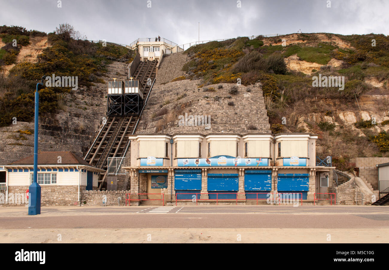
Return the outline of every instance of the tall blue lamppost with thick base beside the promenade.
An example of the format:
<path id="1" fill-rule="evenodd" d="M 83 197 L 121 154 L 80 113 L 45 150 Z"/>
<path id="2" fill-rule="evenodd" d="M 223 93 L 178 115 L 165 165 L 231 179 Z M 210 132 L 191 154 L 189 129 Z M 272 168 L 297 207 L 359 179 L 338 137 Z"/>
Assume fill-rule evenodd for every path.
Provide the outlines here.
<path id="1" fill-rule="evenodd" d="M 45 76 L 41 81 L 37 83 L 37 91 L 35 92 L 35 124 L 34 124 L 34 179 L 28 188 L 30 193 L 28 200 L 28 214 L 39 215 L 40 214 L 40 186 L 38 184 L 38 117 L 39 117 L 39 92 L 38 86 L 43 86 Z"/>

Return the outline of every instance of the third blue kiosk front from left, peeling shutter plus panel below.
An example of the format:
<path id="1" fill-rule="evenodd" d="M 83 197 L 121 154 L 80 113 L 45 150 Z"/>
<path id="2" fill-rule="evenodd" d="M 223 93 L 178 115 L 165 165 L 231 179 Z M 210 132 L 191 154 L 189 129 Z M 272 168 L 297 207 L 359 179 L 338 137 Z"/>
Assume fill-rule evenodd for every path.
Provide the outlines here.
<path id="1" fill-rule="evenodd" d="M 267 194 L 272 190 L 272 171 L 271 170 L 245 170 L 244 171 L 244 190 L 246 199 L 268 198 Z"/>

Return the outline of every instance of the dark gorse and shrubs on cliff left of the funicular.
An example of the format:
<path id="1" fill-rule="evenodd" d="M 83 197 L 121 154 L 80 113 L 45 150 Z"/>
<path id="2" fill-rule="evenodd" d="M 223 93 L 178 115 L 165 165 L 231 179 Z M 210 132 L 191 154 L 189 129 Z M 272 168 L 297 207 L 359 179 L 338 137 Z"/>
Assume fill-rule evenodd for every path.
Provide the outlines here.
<path id="1" fill-rule="evenodd" d="M 11 42 L 12 37 L 46 35 L 18 26 L 1 26 L 0 33 Z M 133 52 L 125 47 L 75 40 L 69 31 L 49 33 L 47 38 L 51 46 L 38 56 L 37 63 L 18 63 L 10 70 L 9 77 L 0 77 L 0 126 L 11 124 L 13 117 L 18 121 L 32 121 L 35 86 L 42 76 L 77 76 L 78 87 L 88 87 L 96 82 L 103 83 L 98 77 L 107 71 L 107 64 L 130 62 L 133 57 Z M 0 51 L 3 59 L 6 54 Z M 40 89 L 40 114 L 58 109 L 57 93 L 71 93 L 71 87 L 44 86 Z"/>

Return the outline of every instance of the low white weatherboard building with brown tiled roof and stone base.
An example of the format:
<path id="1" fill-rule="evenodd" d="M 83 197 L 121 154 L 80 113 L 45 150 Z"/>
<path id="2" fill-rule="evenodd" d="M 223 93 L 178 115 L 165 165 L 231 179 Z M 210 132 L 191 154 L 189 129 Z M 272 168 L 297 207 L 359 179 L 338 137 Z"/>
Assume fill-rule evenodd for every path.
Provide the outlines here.
<path id="1" fill-rule="evenodd" d="M 37 181 L 42 188 L 41 204 L 77 204 L 83 190 L 97 189 L 98 176 L 104 172 L 72 152 L 40 152 Z M 28 203 L 27 190 L 32 181 L 33 155 L 11 165 L 0 165 L 0 196 L 4 196 L 4 203 Z"/>

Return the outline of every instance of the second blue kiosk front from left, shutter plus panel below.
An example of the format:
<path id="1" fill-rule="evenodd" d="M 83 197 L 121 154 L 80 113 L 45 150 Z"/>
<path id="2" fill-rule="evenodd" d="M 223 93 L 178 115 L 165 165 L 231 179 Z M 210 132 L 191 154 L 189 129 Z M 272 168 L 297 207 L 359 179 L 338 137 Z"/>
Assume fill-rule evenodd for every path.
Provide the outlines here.
<path id="1" fill-rule="evenodd" d="M 215 199 L 235 199 L 237 198 L 238 174 L 208 174 L 208 198 Z M 219 194 L 215 193 L 232 193 Z"/>

